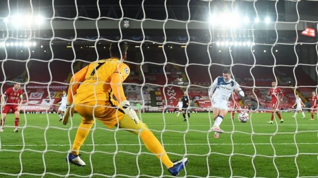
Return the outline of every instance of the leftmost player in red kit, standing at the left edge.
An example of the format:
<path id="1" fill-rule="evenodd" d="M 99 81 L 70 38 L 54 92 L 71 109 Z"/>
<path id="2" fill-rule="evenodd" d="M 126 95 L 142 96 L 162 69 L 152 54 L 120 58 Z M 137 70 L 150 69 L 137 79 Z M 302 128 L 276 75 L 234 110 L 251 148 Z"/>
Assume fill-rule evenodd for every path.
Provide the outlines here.
<path id="1" fill-rule="evenodd" d="M 19 116 L 20 116 L 20 106 L 23 102 L 22 99 L 22 90 L 20 89 L 21 83 L 16 82 L 12 88 L 7 89 L 3 95 L 1 96 L 1 107 L 3 107 L 2 110 L 2 118 L 0 121 L 0 132 L 3 132 L 3 125 L 5 121 L 5 117 L 7 116 L 10 109 L 12 109 L 12 112 L 16 116 L 15 121 L 15 129 L 14 132 L 18 132 L 18 126 L 19 126 Z M 19 103 L 18 103 L 19 100 Z M 6 103 L 4 103 L 6 101 Z"/>

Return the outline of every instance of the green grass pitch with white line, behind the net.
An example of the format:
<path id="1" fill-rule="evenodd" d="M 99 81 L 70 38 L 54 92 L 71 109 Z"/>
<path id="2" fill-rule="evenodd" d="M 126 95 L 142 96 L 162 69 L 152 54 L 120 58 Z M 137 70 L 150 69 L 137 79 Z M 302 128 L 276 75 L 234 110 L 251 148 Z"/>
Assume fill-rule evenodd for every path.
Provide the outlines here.
<path id="1" fill-rule="evenodd" d="M 269 125 L 270 113 L 250 114 L 247 123 L 224 118 L 227 133 L 214 139 L 208 133 L 212 113 L 144 113 L 143 122 L 153 131 L 171 160 L 187 156 L 180 177 L 318 177 L 318 121 L 292 118 L 282 113 L 283 124 Z M 86 167 L 65 162 L 73 144 L 80 116 L 68 125 L 56 114 L 21 115 L 19 132 L 13 132 L 14 116 L 6 118 L 0 133 L 0 178 L 60 177 L 167 177 L 170 174 L 148 152 L 138 137 L 125 130 L 108 129 L 99 121 L 81 147 Z M 252 134 L 253 133 L 253 134 Z M 275 157 L 274 157 L 275 155 Z M 296 157 L 296 155 L 298 155 Z"/>

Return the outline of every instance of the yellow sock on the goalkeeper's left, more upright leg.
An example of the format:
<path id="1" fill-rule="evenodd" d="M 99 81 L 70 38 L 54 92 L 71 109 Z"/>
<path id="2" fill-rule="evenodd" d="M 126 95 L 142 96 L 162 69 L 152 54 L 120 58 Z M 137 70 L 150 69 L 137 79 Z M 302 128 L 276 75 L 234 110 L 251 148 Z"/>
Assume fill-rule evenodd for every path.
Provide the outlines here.
<path id="1" fill-rule="evenodd" d="M 76 132 L 76 136 L 75 136 L 75 140 L 74 140 L 73 147 L 72 147 L 72 154 L 74 156 L 78 155 L 79 149 L 82 146 L 82 144 L 84 143 L 87 135 L 90 133 L 90 130 L 91 130 L 93 124 L 94 124 L 94 121 L 92 121 L 89 124 L 81 123 L 78 126 L 78 129 L 77 129 L 77 132 Z"/>

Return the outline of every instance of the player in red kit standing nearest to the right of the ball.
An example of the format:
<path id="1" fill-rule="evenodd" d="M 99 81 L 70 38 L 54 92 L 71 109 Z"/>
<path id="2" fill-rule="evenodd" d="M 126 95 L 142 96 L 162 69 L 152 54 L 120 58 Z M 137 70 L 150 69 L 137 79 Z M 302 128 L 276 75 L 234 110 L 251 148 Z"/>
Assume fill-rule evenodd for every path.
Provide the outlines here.
<path id="1" fill-rule="evenodd" d="M 271 116 L 271 120 L 268 121 L 268 124 L 273 124 L 273 120 L 274 120 L 274 113 L 276 112 L 276 114 L 278 115 L 278 117 L 281 120 L 281 123 L 284 122 L 284 120 L 281 118 L 281 113 L 280 111 L 278 111 L 279 105 L 282 102 L 282 98 L 284 97 L 284 93 L 281 91 L 280 88 L 277 87 L 276 82 L 272 82 L 272 89 L 269 89 L 268 92 L 268 96 L 272 96 L 272 116 Z M 281 99 L 279 101 L 278 95 L 281 94 Z"/>

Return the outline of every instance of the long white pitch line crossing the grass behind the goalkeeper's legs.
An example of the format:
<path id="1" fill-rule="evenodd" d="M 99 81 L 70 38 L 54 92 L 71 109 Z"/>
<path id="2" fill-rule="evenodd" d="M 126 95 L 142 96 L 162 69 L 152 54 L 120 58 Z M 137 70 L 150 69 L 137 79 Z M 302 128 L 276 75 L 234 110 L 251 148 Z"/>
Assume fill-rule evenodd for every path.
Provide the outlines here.
<path id="1" fill-rule="evenodd" d="M 297 143 L 297 144 L 318 144 Z M 117 144 L 118 146 L 139 146 L 140 144 Z M 141 144 L 143 145 L 143 144 Z M 177 143 L 166 143 L 163 145 L 185 145 Z M 208 145 L 206 143 L 187 143 L 186 145 Z M 232 143 L 210 143 L 210 145 L 232 145 Z M 233 143 L 233 145 L 253 145 L 253 143 Z M 254 143 L 254 145 L 271 145 L 271 143 Z M 295 145 L 295 143 L 273 143 L 273 145 Z M 1 146 L 23 146 L 23 144 L 2 144 Z M 46 146 L 45 144 L 25 144 L 24 146 Z M 69 144 L 48 144 L 47 146 L 70 146 Z M 82 146 L 116 146 L 116 144 L 83 144 Z"/>

